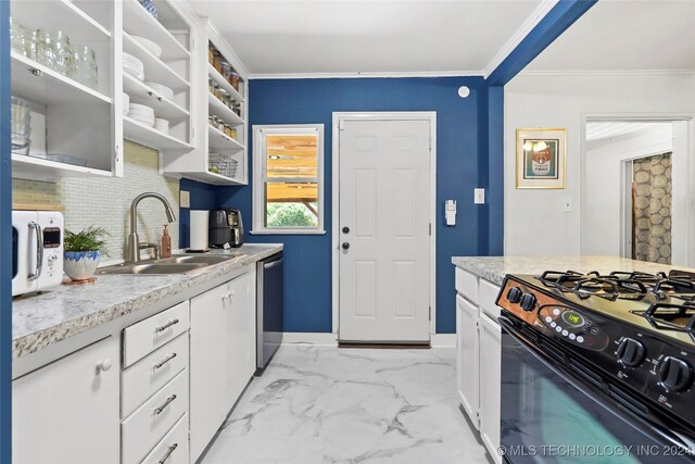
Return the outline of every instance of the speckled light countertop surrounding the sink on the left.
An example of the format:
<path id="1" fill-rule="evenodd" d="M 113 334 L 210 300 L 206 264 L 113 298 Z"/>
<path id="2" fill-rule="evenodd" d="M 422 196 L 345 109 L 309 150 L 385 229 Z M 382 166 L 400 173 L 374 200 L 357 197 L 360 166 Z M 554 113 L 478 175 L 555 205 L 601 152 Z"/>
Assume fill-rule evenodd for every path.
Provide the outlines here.
<path id="1" fill-rule="evenodd" d="M 62 285 L 12 300 L 12 356 L 34 353 L 49 344 L 114 321 L 167 297 L 240 269 L 282 250 L 282 246 L 244 244 L 232 249 L 245 256 L 188 274 L 100 275 L 86 286 Z M 225 250 L 211 250 L 225 254 Z"/>

